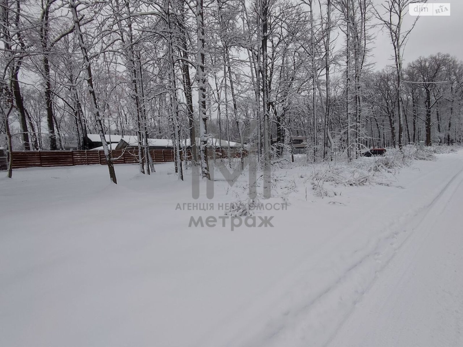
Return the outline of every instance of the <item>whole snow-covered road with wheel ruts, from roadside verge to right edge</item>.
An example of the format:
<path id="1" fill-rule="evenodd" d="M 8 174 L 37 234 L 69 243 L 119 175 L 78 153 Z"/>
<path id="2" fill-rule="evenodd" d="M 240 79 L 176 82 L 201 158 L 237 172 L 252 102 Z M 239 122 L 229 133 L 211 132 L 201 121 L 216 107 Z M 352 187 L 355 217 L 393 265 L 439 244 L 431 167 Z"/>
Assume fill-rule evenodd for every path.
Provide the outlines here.
<path id="1" fill-rule="evenodd" d="M 463 155 L 417 165 L 340 243 L 307 255 L 260 333 L 229 345 L 461 346 Z"/>

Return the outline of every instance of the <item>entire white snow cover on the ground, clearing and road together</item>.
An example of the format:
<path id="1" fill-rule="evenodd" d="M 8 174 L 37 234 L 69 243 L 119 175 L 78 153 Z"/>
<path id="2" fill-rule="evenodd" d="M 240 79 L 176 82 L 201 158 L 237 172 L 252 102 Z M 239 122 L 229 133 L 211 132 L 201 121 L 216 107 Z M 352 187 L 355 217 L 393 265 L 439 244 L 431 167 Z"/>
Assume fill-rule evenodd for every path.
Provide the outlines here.
<path id="1" fill-rule="evenodd" d="M 172 163 L 1 178 L 0 345 L 462 345 L 463 152 L 325 198 L 315 169 L 276 170 L 262 202 L 287 208 L 233 231 L 190 218 L 219 221 L 245 175 L 213 200 Z"/>

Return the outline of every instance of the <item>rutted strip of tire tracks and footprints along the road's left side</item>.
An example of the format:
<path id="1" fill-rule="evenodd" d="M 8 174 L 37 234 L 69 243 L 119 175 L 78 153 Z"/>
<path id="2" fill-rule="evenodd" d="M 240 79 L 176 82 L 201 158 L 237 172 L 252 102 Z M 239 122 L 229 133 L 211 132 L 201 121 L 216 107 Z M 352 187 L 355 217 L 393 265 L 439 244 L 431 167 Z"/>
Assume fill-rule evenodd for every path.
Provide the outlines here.
<path id="1" fill-rule="evenodd" d="M 426 172 L 414 183 L 424 180 L 431 174 L 446 171 L 450 167 L 454 169 L 455 163 L 450 162 L 444 167 Z M 312 256 L 302 265 L 299 264 L 299 268 L 282 279 L 281 283 L 275 285 L 275 288 L 263 293 L 259 303 L 247 312 L 241 311 L 241 314 L 245 314 L 244 317 L 240 315 L 240 318 L 243 318 L 240 323 L 233 322 L 236 319 L 229 322 L 228 328 L 232 328 L 231 331 L 234 334 L 225 337 L 226 333 L 219 328 L 215 335 L 217 340 L 210 344 L 216 344 L 220 340 L 222 343 L 219 344 L 225 342 L 226 345 L 246 346 L 325 345 L 329 343 L 338 328 L 354 310 L 355 304 L 374 283 L 377 273 L 384 269 L 403 242 L 413 233 L 409 232 L 405 235 L 407 230 L 403 227 L 417 219 L 420 220 L 421 216 L 430 211 L 445 192 L 448 192 L 449 187 L 462 172 L 463 168 L 459 161 L 457 174 L 450 178 L 429 204 L 415 208 L 412 212 L 401 214 L 387 227 L 379 229 L 379 233 L 372 232 L 376 237 L 367 238 L 366 241 L 357 238 L 356 242 L 364 242 L 354 250 L 351 244 L 343 248 L 342 243 L 346 239 L 364 233 L 355 228 L 361 229 L 362 225 L 355 224 L 347 229 L 351 232 L 346 233 L 343 240 L 328 245 L 331 246 L 332 251 L 340 254 L 336 261 L 332 260 L 329 264 L 323 263 L 326 260 L 326 253 L 329 252 L 326 247 L 319 252 L 318 256 Z M 383 205 L 393 202 L 394 198 L 397 197 L 388 199 Z M 341 244 L 340 249 L 339 244 Z M 325 275 L 320 276 L 317 273 L 320 269 L 325 272 Z M 325 285 L 321 287 L 320 283 L 313 285 L 309 282 L 309 279 L 313 278 L 319 279 L 320 283 Z M 307 296 L 308 292 L 312 295 Z M 274 304 L 269 307 L 269 303 Z M 253 327 L 252 331 L 250 327 Z M 256 329 L 256 327 L 260 328 Z M 256 334 L 256 331 L 259 333 Z M 235 335 L 237 332 L 244 334 Z M 249 333 L 246 334 L 246 332 Z M 223 340 L 224 337 L 225 340 Z"/>

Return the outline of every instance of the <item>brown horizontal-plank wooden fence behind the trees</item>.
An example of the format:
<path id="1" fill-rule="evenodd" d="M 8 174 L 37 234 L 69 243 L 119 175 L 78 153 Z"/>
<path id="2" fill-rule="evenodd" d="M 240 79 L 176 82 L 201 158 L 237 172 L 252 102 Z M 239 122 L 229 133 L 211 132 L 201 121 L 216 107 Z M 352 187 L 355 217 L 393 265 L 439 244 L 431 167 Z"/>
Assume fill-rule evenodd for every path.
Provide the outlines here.
<path id="1" fill-rule="evenodd" d="M 172 149 L 151 149 L 151 158 L 155 163 L 174 161 Z M 213 151 L 209 156 L 213 157 Z M 138 149 L 115 149 L 111 151 L 114 164 L 138 163 Z M 232 151 L 232 157 L 239 157 L 238 151 Z M 216 149 L 216 157 L 226 158 L 226 149 Z M 186 155 L 181 154 L 182 160 L 191 160 L 191 152 L 188 149 Z M 2 160 L 3 159 L 3 160 Z M 4 162 L 4 165 L 2 163 Z M 96 150 L 75 150 L 75 151 L 13 151 L 13 169 L 23 167 L 54 167 L 74 165 L 106 165 L 103 151 Z M 3 167 L 4 166 L 4 167 Z M 6 170 L 6 159 L 0 157 L 0 169 Z"/>

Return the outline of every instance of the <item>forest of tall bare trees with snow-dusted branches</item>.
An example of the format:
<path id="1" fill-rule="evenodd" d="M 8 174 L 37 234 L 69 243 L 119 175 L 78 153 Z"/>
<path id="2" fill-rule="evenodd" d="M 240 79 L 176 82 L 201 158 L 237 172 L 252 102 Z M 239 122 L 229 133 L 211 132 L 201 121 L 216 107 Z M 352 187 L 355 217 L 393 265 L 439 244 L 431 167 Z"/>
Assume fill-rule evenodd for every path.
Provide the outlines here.
<path id="1" fill-rule="evenodd" d="M 206 178 L 211 137 L 256 146 L 263 165 L 292 154 L 292 136 L 311 161 L 461 143 L 463 62 L 402 63 L 409 3 L 1 0 L 0 147 L 84 149 L 97 133 L 116 183 L 107 133 L 137 136 L 145 174 L 148 139 L 172 139 L 179 179 L 186 139 Z M 378 28 L 392 57 L 382 70 Z"/>

